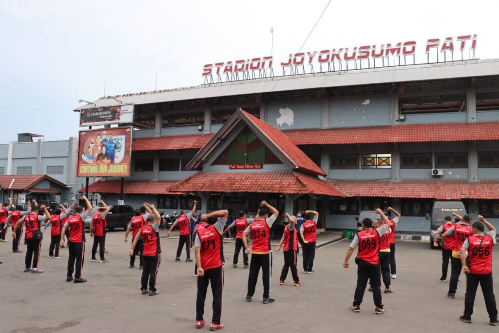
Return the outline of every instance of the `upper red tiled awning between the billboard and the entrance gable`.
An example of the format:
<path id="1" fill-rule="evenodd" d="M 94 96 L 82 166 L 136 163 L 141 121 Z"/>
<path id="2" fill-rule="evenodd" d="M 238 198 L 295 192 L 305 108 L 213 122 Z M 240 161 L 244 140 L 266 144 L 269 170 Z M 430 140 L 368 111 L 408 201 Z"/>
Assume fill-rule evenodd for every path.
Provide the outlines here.
<path id="1" fill-rule="evenodd" d="M 132 149 L 133 151 L 201 149 L 212 136 L 213 134 L 210 133 L 136 138 L 133 140 Z"/>

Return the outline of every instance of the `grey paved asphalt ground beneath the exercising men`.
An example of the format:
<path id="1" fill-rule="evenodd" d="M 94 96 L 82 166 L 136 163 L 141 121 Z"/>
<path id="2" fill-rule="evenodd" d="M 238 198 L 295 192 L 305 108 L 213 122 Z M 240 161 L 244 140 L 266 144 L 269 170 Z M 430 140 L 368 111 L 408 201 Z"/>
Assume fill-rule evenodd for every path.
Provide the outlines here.
<path id="1" fill-rule="evenodd" d="M 162 231 L 162 234 L 166 232 Z M 158 278 L 158 296 L 140 294 L 138 269 L 129 269 L 130 243 L 122 231 L 109 232 L 106 248 L 110 263 L 90 262 L 91 240 L 87 233 L 83 276 L 87 283 L 66 283 L 67 250 L 62 259 L 48 258 L 49 232 L 45 233 L 39 267 L 43 274 L 23 273 L 24 252 L 11 253 L 11 243 L 0 244 L 0 332 L 196 332 L 196 278 L 194 263 L 175 262 L 177 240 L 162 239 L 163 254 Z M 47 237 L 48 236 L 48 237 Z M 175 235 L 174 235 L 175 236 Z M 383 301 L 387 312 L 374 314 L 371 293 L 365 293 L 361 313 L 348 310 L 353 300 L 356 266 L 341 264 L 349 241 L 318 249 L 314 274 L 300 274 L 302 286 L 294 287 L 290 275 L 279 286 L 282 253 L 273 253 L 271 293 L 274 304 L 262 304 L 259 280 L 253 302 L 245 302 L 248 270 L 232 267 L 234 245 L 225 244 L 225 288 L 223 332 L 488 332 L 481 292 L 477 293 L 473 324 L 459 320 L 463 311 L 465 281 L 455 300 L 446 297 L 448 283 L 441 283 L 441 252 L 426 243 L 398 243 L 398 278 L 394 294 Z M 25 246 L 22 251 L 25 251 Z M 495 251 L 497 267 L 499 253 Z M 301 260 L 301 256 L 298 257 Z M 138 258 L 136 265 L 138 267 Z M 300 265 L 299 265 L 300 266 Z M 301 271 L 301 270 L 300 270 Z M 497 270 L 495 271 L 495 273 Z M 496 273 L 497 274 L 497 273 Z M 261 276 L 261 275 L 260 275 Z M 498 290 L 496 276 L 495 289 Z M 205 320 L 211 320 L 211 291 L 207 296 Z M 208 326 L 198 332 L 208 331 Z"/>

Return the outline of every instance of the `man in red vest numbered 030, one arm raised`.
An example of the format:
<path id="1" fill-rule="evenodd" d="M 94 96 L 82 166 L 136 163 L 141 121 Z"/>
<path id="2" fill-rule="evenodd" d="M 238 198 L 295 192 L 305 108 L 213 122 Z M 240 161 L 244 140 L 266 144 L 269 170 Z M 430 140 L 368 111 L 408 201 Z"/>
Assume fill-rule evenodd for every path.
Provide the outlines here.
<path id="1" fill-rule="evenodd" d="M 69 230 L 69 239 L 67 241 L 67 247 L 69 250 L 69 257 L 67 259 L 67 276 L 66 281 L 71 282 L 73 280 L 74 273 L 74 283 L 83 283 L 87 280 L 81 277 L 84 254 L 85 254 L 85 219 L 92 211 L 92 205 L 88 201 L 87 197 L 82 195 L 82 200 L 85 200 L 87 209 L 83 211 L 83 207 L 76 206 L 74 208 L 74 215 L 70 216 L 61 230 L 61 241 L 60 246 L 64 246 L 64 235 L 66 230 Z"/>

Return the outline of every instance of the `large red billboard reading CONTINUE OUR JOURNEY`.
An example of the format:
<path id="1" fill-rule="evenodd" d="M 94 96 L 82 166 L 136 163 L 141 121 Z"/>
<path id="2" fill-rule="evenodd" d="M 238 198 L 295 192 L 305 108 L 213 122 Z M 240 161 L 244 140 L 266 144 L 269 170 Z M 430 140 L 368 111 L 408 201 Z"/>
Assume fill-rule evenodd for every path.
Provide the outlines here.
<path id="1" fill-rule="evenodd" d="M 129 176 L 131 154 L 132 127 L 80 131 L 78 176 Z"/>

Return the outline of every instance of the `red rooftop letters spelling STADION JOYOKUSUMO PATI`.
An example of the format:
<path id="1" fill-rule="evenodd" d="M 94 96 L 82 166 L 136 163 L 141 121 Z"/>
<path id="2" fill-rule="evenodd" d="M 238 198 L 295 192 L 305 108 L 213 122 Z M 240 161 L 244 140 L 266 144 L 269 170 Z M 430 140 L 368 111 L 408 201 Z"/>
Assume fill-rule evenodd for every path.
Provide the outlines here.
<path id="1" fill-rule="evenodd" d="M 454 60 L 454 51 L 461 51 L 461 59 L 464 59 L 464 50 L 470 50 L 473 54 L 470 55 L 470 58 L 475 58 L 475 49 L 477 46 L 477 35 L 469 34 L 469 35 L 461 35 L 456 38 L 447 37 L 445 39 L 440 38 L 430 38 L 426 41 L 425 52 L 427 54 L 427 62 L 430 61 L 430 54 L 436 53 L 437 58 L 436 62 L 439 61 L 438 53 L 443 53 L 444 60 L 446 61 L 446 54 L 449 54 L 449 60 Z M 364 68 L 371 67 L 372 65 L 376 67 L 376 59 L 382 62 L 381 65 L 378 66 L 390 66 L 390 65 L 406 65 L 406 57 L 414 57 L 416 54 L 416 41 L 409 40 L 405 42 L 397 42 L 397 43 L 386 43 L 386 44 L 378 44 L 378 45 L 363 45 L 356 47 L 342 47 L 342 48 L 333 48 L 333 49 L 324 49 L 320 51 L 307 51 L 307 52 L 298 52 L 298 53 L 290 53 L 289 57 L 284 61 L 280 62 L 280 67 L 283 70 L 283 75 L 286 75 L 285 69 L 290 68 L 290 74 L 301 74 L 304 73 L 304 69 L 301 73 L 293 72 L 293 67 L 304 67 L 305 65 L 311 65 L 311 72 L 313 72 L 313 64 L 317 64 L 320 66 L 320 71 L 323 70 L 322 66 L 326 66 L 326 71 L 332 70 L 344 70 L 348 68 L 348 62 L 354 61 L 354 66 L 351 66 L 350 69 L 357 69 L 358 66 L 362 68 L 362 64 L 364 62 Z M 400 57 L 403 57 L 404 62 Z M 398 63 L 395 59 L 390 63 L 389 57 L 398 57 Z M 385 61 L 386 58 L 386 61 Z M 371 60 L 373 64 L 371 64 Z M 367 63 L 366 63 L 367 62 Z M 342 63 L 346 64 L 346 68 L 343 68 Z M 228 81 L 239 80 L 239 79 L 250 79 L 257 77 L 266 77 L 267 70 L 270 71 L 269 76 L 273 76 L 273 64 L 274 59 L 272 56 L 263 56 L 263 57 L 255 57 L 251 59 L 240 59 L 235 61 L 223 61 L 223 62 L 215 62 L 208 63 L 203 66 L 202 76 L 205 78 L 205 83 L 212 83 L 213 79 L 210 80 L 213 75 L 218 77 L 218 80 L 222 76 L 225 76 Z M 413 58 L 412 63 L 415 64 L 415 57 Z M 335 66 L 336 65 L 336 66 Z M 257 74 L 255 74 L 255 72 Z M 263 72 L 263 74 L 262 74 Z M 250 75 L 251 73 L 251 75 Z M 241 75 L 241 77 L 239 76 Z"/>

